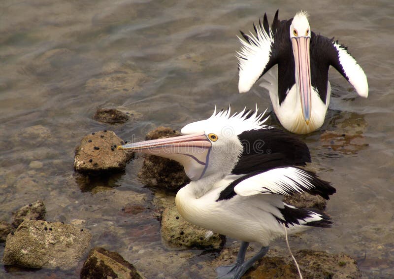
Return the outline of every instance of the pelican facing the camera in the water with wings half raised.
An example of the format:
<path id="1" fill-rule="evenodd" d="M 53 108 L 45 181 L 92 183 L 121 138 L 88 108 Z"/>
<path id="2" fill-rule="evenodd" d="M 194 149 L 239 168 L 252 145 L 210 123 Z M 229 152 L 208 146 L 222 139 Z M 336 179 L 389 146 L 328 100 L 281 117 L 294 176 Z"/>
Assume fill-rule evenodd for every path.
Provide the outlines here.
<path id="1" fill-rule="evenodd" d="M 245 93 L 263 77 L 262 87 L 269 91 L 273 110 L 282 126 L 296 134 L 319 129 L 329 105 L 331 86 L 328 81 L 332 66 L 364 98 L 368 82 L 360 65 L 347 47 L 311 31 L 307 13 L 298 12 L 290 20 L 279 21 L 278 10 L 269 26 L 253 25 L 256 35 L 245 34 L 237 52 L 238 90 Z"/>

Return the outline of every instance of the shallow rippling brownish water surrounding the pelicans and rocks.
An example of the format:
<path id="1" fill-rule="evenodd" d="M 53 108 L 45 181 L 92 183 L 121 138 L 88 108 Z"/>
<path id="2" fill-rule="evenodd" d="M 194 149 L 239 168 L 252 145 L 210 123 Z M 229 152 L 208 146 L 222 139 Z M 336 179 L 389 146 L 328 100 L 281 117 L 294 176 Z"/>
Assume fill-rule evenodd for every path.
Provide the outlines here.
<path id="1" fill-rule="evenodd" d="M 321 136 L 322 131 L 302 138 L 311 149 L 312 166 L 337 188 L 327 207 L 334 226 L 293 238 L 292 246 L 346 252 L 358 260 L 364 277 L 391 278 L 391 0 L 1 1 L 0 219 L 10 221 L 12 210 L 41 199 L 47 220 L 91 230 L 92 246 L 118 251 L 147 278 L 214 277 L 213 268 L 202 269 L 203 274 L 200 264 L 215 253 L 162 242 L 155 209 L 163 193 L 136 178 L 141 158 L 121 175 L 92 182 L 113 187 L 96 193 L 74 174 L 74 149 L 83 136 L 102 129 L 140 140 L 160 125 L 180 128 L 210 116 L 215 104 L 242 109 L 257 103 L 265 109 L 269 98 L 258 86 L 237 93 L 236 35 L 251 30 L 264 11 L 271 21 L 277 8 L 282 19 L 307 10 L 313 31 L 348 45 L 368 76 L 370 94 L 357 98 L 350 84 L 331 71 L 333 96 L 323 129 L 353 139 L 332 146 L 331 136 Z M 119 75 L 105 80 L 114 73 Z M 122 82 L 133 85 L 125 88 Z M 110 126 L 93 120 L 98 107 L 142 116 Z M 121 211 L 135 200 L 147 208 L 143 213 Z M 4 269 L 0 262 L 0 278 L 78 277 L 78 272 Z"/>

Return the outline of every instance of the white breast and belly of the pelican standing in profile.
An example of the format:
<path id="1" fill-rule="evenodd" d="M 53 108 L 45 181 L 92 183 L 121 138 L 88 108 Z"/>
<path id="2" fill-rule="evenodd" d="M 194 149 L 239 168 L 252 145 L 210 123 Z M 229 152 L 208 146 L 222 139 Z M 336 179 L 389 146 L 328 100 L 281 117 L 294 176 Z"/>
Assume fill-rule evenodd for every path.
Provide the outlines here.
<path id="1" fill-rule="evenodd" d="M 230 200 L 216 202 L 222 187 L 213 188 L 196 199 L 188 186 L 190 184 L 178 191 L 175 202 L 179 213 L 190 223 L 237 240 L 265 246 L 283 236 L 283 226 L 272 215 L 272 212 L 280 214 L 272 204 L 283 205 L 281 196 L 236 195 Z"/>

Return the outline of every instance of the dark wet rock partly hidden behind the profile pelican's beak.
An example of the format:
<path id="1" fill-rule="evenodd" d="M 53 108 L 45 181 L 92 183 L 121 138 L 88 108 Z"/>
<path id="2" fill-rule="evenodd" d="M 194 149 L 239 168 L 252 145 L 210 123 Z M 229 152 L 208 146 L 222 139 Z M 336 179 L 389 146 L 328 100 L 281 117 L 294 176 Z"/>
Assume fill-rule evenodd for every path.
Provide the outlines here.
<path id="1" fill-rule="evenodd" d="M 176 136 L 181 136 L 181 134 L 170 128 L 159 127 L 149 132 L 145 138 L 150 140 Z M 160 186 L 173 191 L 179 190 L 182 186 L 190 182 L 181 164 L 154 155 L 146 155 L 138 177 L 148 186 Z"/>

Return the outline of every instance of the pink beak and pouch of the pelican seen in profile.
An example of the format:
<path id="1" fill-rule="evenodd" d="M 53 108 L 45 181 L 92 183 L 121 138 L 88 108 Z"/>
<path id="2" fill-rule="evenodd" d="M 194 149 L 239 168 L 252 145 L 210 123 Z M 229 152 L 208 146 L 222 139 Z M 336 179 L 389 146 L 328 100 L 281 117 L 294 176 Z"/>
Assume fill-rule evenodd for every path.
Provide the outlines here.
<path id="1" fill-rule="evenodd" d="M 208 166 L 212 143 L 205 134 L 152 139 L 118 146 L 118 149 L 152 154 L 178 161 L 192 180 L 200 179 Z"/>

